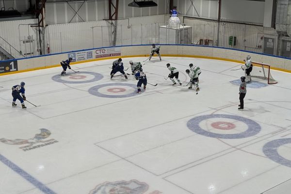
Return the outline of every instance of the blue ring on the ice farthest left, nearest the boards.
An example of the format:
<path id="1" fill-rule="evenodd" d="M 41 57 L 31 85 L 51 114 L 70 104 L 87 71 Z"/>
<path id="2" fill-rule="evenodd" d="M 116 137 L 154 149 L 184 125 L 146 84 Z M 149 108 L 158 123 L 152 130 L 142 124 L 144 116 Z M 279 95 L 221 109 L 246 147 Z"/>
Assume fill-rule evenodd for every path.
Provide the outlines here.
<path id="1" fill-rule="evenodd" d="M 91 80 L 84 80 L 84 81 L 67 81 L 67 80 L 63 80 L 63 76 L 60 75 L 55 75 L 53 76 L 51 79 L 53 81 L 57 81 L 57 82 L 61 82 L 61 83 L 89 83 L 89 82 L 93 82 L 93 81 L 99 81 L 103 78 L 102 74 L 99 73 L 95 73 L 95 72 L 89 72 L 89 71 L 80 71 L 78 72 L 80 74 L 90 74 L 93 75 L 94 78 Z M 72 74 L 65 74 L 65 76 L 77 76 L 77 73 L 72 73 Z"/>

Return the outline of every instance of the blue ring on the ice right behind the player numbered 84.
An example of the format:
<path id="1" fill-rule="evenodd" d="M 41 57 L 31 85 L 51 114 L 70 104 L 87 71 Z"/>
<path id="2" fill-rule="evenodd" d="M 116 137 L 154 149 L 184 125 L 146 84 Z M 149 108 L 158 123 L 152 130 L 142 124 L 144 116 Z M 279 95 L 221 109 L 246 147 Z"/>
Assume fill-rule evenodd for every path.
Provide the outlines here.
<path id="1" fill-rule="evenodd" d="M 106 87 L 106 86 L 114 86 L 114 88 L 116 86 L 127 86 L 127 87 L 134 88 L 134 91 L 132 93 L 123 94 L 123 95 L 107 95 L 107 94 L 102 94 L 102 93 L 100 93 L 98 91 L 100 88 Z M 100 84 L 100 85 L 96 85 L 96 86 L 91 87 L 88 92 L 90 94 L 94 95 L 94 96 L 97 96 L 97 97 L 110 97 L 110 98 L 133 97 L 135 95 L 138 95 L 136 93 L 136 85 L 129 84 L 129 83 L 106 83 L 106 84 Z"/>

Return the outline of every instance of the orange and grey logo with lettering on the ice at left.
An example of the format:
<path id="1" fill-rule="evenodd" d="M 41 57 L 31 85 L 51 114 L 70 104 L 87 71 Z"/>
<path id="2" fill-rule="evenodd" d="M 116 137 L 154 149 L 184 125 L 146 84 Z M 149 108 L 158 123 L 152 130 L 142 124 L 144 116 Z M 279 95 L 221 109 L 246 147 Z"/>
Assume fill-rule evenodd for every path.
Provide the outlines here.
<path id="1" fill-rule="evenodd" d="M 55 144 L 58 143 L 58 141 L 54 139 L 49 139 L 49 140 L 44 140 L 50 136 L 51 132 L 48 129 L 40 129 L 40 133 L 37 133 L 34 135 L 34 137 L 29 138 L 29 139 L 15 139 L 15 140 L 9 140 L 5 138 L 1 138 L 0 142 L 4 144 L 9 144 L 9 145 L 25 145 L 28 144 L 27 146 L 21 146 L 19 147 L 23 151 L 29 151 L 35 148 L 43 147 L 43 146 L 48 146 L 50 144 Z M 40 144 L 41 143 L 41 144 Z M 34 144 L 39 144 L 37 146 L 32 146 Z"/>

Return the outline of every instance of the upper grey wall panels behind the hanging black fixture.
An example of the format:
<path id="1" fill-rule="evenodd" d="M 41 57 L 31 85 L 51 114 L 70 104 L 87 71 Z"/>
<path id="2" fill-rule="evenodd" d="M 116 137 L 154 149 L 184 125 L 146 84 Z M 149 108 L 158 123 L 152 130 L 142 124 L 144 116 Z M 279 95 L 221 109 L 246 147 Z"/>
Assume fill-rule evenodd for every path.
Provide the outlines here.
<path id="1" fill-rule="evenodd" d="M 157 7 L 145 8 L 129 7 L 132 1 L 119 0 L 118 18 L 161 15 L 167 14 L 169 10 L 169 0 L 154 0 Z M 50 0 L 46 3 L 46 21 L 48 24 L 62 24 L 108 19 L 108 8 L 108 0 Z"/>

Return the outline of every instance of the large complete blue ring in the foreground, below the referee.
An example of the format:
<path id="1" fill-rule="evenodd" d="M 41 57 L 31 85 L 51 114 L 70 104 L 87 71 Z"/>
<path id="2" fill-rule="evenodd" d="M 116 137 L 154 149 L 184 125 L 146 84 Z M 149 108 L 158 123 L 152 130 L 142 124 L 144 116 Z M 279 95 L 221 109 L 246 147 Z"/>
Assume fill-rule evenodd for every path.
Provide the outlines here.
<path id="1" fill-rule="evenodd" d="M 213 133 L 213 132 L 202 129 L 199 126 L 199 123 L 203 120 L 210 119 L 210 118 L 222 118 L 222 119 L 228 118 L 228 119 L 241 121 L 248 126 L 248 129 L 241 133 L 235 133 L 235 134 Z M 261 130 L 260 125 L 256 123 L 255 121 L 248 118 L 241 117 L 241 116 L 235 116 L 235 115 L 229 115 L 229 114 L 208 114 L 208 115 L 196 116 L 187 122 L 187 127 L 193 132 L 198 133 L 200 135 L 214 137 L 214 138 L 222 138 L 222 139 L 246 138 L 246 137 L 256 135 Z"/>

